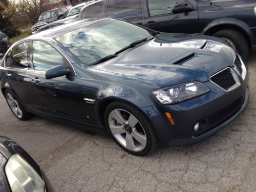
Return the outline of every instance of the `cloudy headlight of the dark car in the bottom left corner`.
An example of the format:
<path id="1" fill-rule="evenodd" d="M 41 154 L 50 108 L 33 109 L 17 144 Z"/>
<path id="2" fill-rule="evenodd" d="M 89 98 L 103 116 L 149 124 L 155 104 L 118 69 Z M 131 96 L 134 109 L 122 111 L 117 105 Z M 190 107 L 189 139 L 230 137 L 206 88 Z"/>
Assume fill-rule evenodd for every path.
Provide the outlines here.
<path id="1" fill-rule="evenodd" d="M 44 192 L 45 183 L 22 157 L 15 154 L 5 167 L 12 192 Z"/>

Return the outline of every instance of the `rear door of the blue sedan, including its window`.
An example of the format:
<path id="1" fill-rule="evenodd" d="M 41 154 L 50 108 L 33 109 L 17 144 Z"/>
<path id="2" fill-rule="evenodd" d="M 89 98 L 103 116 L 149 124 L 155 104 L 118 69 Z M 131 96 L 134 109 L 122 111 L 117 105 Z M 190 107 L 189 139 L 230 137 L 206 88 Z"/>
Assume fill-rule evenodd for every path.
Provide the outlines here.
<path id="1" fill-rule="evenodd" d="M 26 108 L 39 110 L 41 104 L 36 98 L 31 82 L 31 66 L 28 60 L 29 41 L 22 42 L 13 47 L 5 57 L 4 75 L 7 87 Z"/>

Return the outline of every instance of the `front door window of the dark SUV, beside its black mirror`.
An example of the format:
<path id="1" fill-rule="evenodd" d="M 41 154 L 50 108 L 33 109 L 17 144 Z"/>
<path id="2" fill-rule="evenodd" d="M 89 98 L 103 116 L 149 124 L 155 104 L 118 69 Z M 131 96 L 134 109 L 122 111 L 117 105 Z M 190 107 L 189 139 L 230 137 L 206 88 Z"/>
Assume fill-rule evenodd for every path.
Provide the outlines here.
<path id="1" fill-rule="evenodd" d="M 184 3 L 184 1 L 178 0 L 147 0 L 148 10 L 150 11 L 150 16 L 164 15 L 172 13 L 173 6 L 176 3 Z"/>

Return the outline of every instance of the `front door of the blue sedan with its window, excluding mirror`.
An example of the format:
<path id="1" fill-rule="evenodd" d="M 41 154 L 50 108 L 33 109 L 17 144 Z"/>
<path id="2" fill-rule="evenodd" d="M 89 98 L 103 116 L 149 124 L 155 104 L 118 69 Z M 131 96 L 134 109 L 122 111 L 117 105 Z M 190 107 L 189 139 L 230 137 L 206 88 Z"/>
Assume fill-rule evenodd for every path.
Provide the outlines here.
<path id="1" fill-rule="evenodd" d="M 87 122 L 79 97 L 75 76 L 46 79 L 46 71 L 58 65 L 70 65 L 68 61 L 45 41 L 32 42 L 30 80 L 33 90 L 45 113 L 74 121 Z"/>

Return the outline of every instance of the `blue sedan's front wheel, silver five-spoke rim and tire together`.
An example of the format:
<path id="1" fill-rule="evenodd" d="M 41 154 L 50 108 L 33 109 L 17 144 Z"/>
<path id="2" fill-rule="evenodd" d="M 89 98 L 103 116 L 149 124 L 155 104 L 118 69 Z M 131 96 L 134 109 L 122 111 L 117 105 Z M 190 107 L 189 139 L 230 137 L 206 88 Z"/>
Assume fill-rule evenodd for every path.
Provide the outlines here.
<path id="1" fill-rule="evenodd" d="M 150 121 L 134 106 L 114 101 L 106 108 L 104 120 L 114 141 L 132 155 L 150 154 L 158 145 Z"/>

